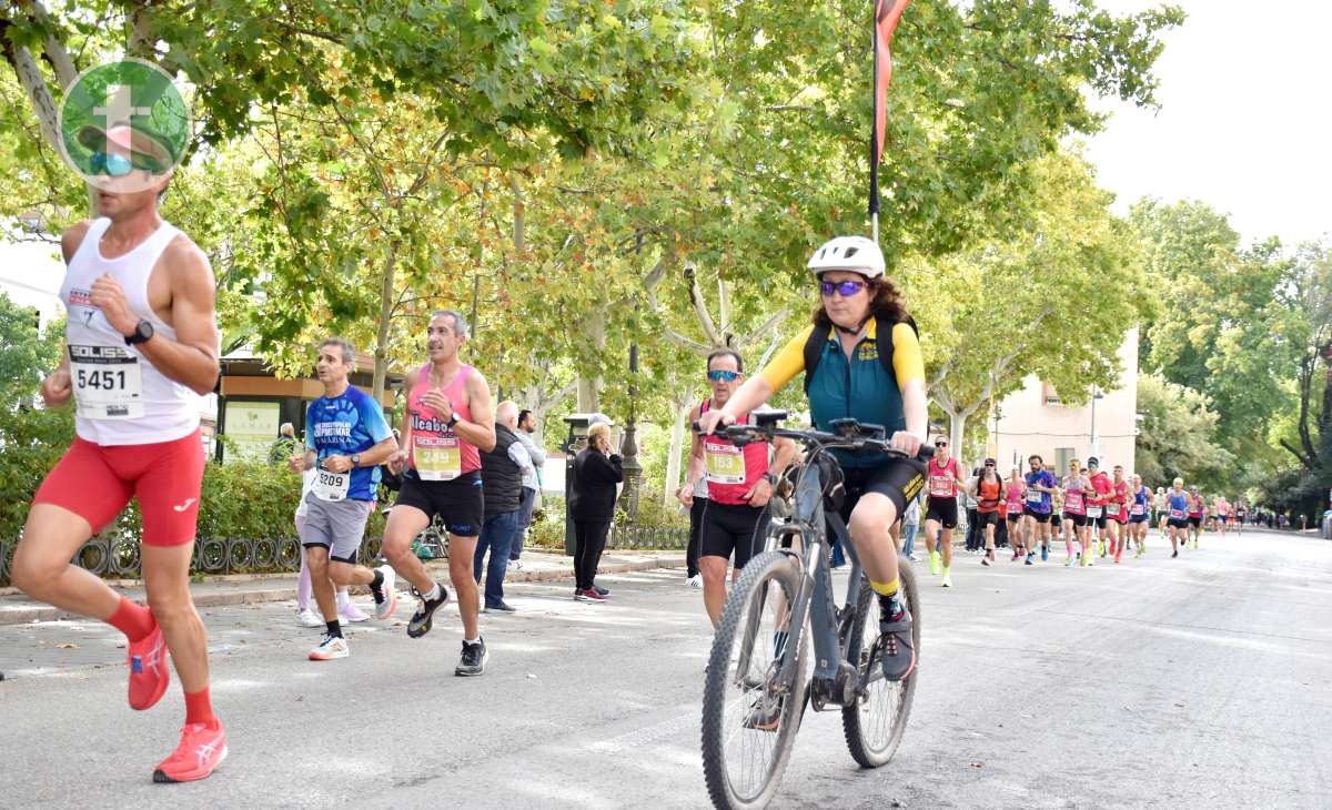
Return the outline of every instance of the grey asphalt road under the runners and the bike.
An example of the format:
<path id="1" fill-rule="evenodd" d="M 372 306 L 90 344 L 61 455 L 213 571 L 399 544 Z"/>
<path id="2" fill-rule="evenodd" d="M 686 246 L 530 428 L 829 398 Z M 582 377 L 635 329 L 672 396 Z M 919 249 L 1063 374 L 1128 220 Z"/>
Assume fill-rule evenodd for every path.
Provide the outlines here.
<path id="1" fill-rule="evenodd" d="M 926 576 L 896 758 L 858 770 L 838 714 L 811 713 L 773 806 L 1332 806 L 1332 542 L 1150 545 L 1090 569 L 959 556 L 952 590 Z M 682 580 L 606 578 L 603 605 L 511 586 L 522 611 L 484 617 L 474 679 L 453 677 L 452 606 L 420 641 L 360 625 L 325 663 L 290 604 L 210 610 L 230 758 L 193 785 L 151 783 L 180 690 L 131 711 L 115 631 L 0 627 L 0 806 L 705 807 L 711 634 Z"/>

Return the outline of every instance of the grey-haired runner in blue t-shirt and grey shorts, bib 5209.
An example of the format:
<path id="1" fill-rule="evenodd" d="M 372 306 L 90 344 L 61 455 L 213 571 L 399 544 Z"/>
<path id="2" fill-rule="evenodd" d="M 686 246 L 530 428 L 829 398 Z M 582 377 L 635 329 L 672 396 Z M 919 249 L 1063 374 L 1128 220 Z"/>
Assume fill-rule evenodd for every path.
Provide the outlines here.
<path id="1" fill-rule="evenodd" d="M 394 573 L 389 566 L 370 570 L 357 565 L 365 521 L 374 512 L 380 465 L 397 453 L 389 422 L 380 404 L 348 382 L 356 361 L 350 342 L 330 337 L 320 346 L 316 370 L 324 396 L 305 412 L 305 456 L 296 456 L 296 472 L 318 470 L 305 496 L 305 530 L 301 545 L 310 569 L 310 586 L 328 631 L 310 650 L 312 661 L 346 658 L 350 654 L 338 623 L 336 585 L 368 585 L 374 596 L 374 614 L 386 619 L 397 606 Z"/>

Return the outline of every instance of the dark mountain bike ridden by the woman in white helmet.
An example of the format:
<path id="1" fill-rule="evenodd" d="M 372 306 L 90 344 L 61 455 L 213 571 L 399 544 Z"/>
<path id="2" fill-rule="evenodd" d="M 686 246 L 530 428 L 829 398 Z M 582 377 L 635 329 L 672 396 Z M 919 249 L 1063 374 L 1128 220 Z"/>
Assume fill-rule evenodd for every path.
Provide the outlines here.
<path id="1" fill-rule="evenodd" d="M 806 706 L 840 710 L 851 758 L 862 767 L 886 765 L 906 730 L 919 671 L 920 601 L 911 566 L 902 561 L 902 598 L 912 617 L 918 666 L 902 681 L 883 677 L 878 600 L 834 508 L 842 474 L 829 450 L 900 453 L 876 425 L 838 420 L 835 433 L 789 430 L 778 426 L 785 412 L 753 416 L 754 424 L 717 434 L 738 445 L 786 437 L 805 445 L 807 457 L 797 470 L 791 517 L 773 524 L 766 550 L 745 566 L 713 641 L 703 687 L 703 775 L 713 803 L 723 810 L 771 801 Z M 918 458 L 932 453 L 923 446 Z M 834 536 L 851 561 L 840 608 L 829 566 Z"/>

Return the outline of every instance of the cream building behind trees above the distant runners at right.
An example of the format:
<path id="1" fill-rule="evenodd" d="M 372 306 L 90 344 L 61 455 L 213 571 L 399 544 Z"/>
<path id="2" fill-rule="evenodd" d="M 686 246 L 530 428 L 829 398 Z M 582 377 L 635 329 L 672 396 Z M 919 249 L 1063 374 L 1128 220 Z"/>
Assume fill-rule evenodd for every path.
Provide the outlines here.
<path id="1" fill-rule="evenodd" d="M 1027 377 L 1022 390 L 1010 394 L 990 414 L 988 449 L 1000 470 L 1018 464 L 1027 469 L 1032 453 L 1047 464 L 1058 465 L 1063 474 L 1070 458 L 1086 465 L 1090 456 L 1100 458 L 1102 468 L 1116 464 L 1126 474 L 1134 472 L 1138 437 L 1138 328 L 1130 329 L 1119 346 L 1123 373 L 1114 390 L 1098 390 L 1092 402 L 1067 406 L 1059 392 L 1036 378 Z"/>

